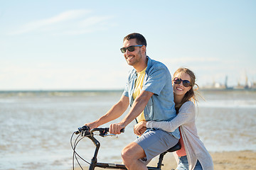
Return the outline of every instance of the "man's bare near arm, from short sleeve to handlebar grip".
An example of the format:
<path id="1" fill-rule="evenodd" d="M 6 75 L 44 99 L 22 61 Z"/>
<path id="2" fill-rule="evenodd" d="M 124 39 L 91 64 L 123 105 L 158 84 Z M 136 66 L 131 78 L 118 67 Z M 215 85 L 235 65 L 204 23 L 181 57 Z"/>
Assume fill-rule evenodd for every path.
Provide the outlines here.
<path id="1" fill-rule="evenodd" d="M 142 91 L 142 93 L 137 96 L 132 104 L 132 108 L 125 118 L 120 123 L 114 123 L 110 125 L 110 133 L 119 134 L 122 128 L 125 128 L 129 123 L 132 122 L 137 116 L 144 111 L 146 104 L 149 102 L 149 98 L 153 96 L 150 91 Z"/>

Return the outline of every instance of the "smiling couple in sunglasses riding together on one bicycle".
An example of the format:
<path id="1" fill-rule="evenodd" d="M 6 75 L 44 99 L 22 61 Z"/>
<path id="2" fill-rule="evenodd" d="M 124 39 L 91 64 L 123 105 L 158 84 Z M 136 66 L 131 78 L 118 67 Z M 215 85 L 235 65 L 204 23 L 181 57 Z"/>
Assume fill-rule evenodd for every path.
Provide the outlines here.
<path id="1" fill-rule="evenodd" d="M 164 64 L 146 56 L 146 39 L 139 33 L 124 38 L 121 52 L 127 64 L 134 67 L 122 97 L 105 115 L 85 125 L 97 128 L 119 118 L 131 106 L 120 123 L 110 125 L 110 133 L 119 134 L 132 120 L 139 122 L 134 125 L 134 133 L 140 137 L 122 150 L 127 169 L 147 169 L 152 158 L 179 140 L 181 149 L 175 153 L 177 169 L 213 169 L 210 154 L 197 135 L 193 72 L 180 68 L 172 80 Z"/>

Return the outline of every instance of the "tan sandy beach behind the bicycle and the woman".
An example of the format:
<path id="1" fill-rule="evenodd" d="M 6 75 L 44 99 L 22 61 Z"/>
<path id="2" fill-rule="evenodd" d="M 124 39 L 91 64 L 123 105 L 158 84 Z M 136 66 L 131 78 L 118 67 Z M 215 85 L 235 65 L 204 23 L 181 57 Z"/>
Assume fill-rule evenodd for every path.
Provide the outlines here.
<path id="1" fill-rule="evenodd" d="M 238 170 L 256 169 L 256 152 L 241 151 L 241 152 L 214 152 L 210 153 L 213 158 L 215 170 Z M 157 160 L 153 160 L 149 166 L 155 166 Z M 176 168 L 176 161 L 172 154 L 166 154 L 164 157 L 163 170 L 171 170 Z M 100 169 L 97 169 L 100 170 Z"/>

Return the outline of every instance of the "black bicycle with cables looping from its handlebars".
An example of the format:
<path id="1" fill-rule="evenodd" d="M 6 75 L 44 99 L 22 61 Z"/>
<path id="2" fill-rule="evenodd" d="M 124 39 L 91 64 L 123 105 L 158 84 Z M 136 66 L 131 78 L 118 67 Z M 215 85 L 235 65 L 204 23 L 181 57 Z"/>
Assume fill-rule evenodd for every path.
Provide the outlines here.
<path id="1" fill-rule="evenodd" d="M 82 128 L 78 128 L 78 131 L 73 132 L 73 135 L 70 138 L 70 144 L 71 144 L 71 147 L 73 149 L 73 169 L 75 169 L 75 162 L 74 162 L 75 159 L 78 162 L 78 157 L 80 157 L 80 155 L 77 152 L 75 152 L 75 148 L 77 147 L 78 142 L 80 142 L 80 140 L 84 139 L 85 137 L 89 138 L 93 142 L 93 144 L 95 145 L 95 152 L 94 152 L 94 155 L 91 159 L 91 162 L 87 162 L 85 159 L 80 157 L 80 159 L 82 159 L 84 162 L 86 162 L 87 164 L 90 164 L 89 170 L 94 170 L 95 167 L 100 167 L 102 169 L 127 169 L 124 166 L 124 164 L 113 164 L 113 163 L 97 162 L 97 154 L 98 154 L 99 149 L 100 149 L 100 142 L 98 140 L 96 140 L 96 138 L 95 138 L 96 134 L 94 134 L 94 132 L 99 132 L 98 136 L 100 136 L 100 137 L 113 136 L 112 134 L 107 135 L 107 132 L 109 132 L 109 129 L 110 128 L 94 128 L 94 129 L 90 130 L 89 127 L 83 126 Z M 121 132 L 124 132 L 124 129 L 122 129 Z M 73 144 L 72 140 L 73 140 L 74 134 L 78 135 L 78 137 L 75 139 L 75 142 Z M 79 137 L 80 137 L 80 139 L 79 139 Z M 166 152 L 163 152 L 159 155 L 159 162 L 157 163 L 157 166 L 146 166 L 146 167 L 149 170 L 161 170 L 161 166 L 164 166 L 164 164 L 162 164 L 163 159 L 164 159 L 164 155 L 167 152 L 175 152 L 178 149 L 181 149 L 181 144 L 179 142 L 174 147 L 171 147 Z M 78 165 L 82 169 L 82 166 L 80 165 L 79 162 L 78 162 Z"/>

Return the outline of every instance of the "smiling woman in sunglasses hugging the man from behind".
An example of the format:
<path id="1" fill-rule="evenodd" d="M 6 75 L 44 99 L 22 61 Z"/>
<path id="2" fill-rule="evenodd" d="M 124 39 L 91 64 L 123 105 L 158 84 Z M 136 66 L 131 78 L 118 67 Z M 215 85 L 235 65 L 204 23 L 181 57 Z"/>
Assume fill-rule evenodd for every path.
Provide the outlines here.
<path id="1" fill-rule="evenodd" d="M 145 128 L 161 128 L 168 132 L 179 127 L 181 132 L 181 149 L 174 153 L 177 170 L 213 169 L 213 160 L 198 137 L 196 130 L 196 96 L 193 86 L 196 77 L 190 69 L 179 68 L 174 73 L 173 88 L 176 118 L 171 121 L 142 121 L 134 126 L 134 133 L 141 135 Z"/>

